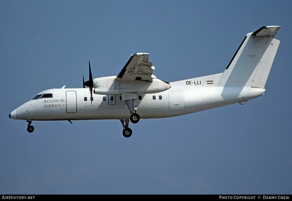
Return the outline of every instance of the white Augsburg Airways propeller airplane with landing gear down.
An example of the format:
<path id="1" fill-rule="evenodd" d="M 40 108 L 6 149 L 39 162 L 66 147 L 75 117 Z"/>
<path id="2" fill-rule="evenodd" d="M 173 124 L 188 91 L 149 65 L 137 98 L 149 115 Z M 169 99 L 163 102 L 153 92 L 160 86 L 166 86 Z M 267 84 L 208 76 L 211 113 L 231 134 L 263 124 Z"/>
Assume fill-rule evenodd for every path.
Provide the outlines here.
<path id="1" fill-rule="evenodd" d="M 229 104 L 245 104 L 264 94 L 280 41 L 281 26 L 263 26 L 248 33 L 225 71 L 203 77 L 165 82 L 153 75 L 148 53 L 132 54 L 117 76 L 92 77 L 83 88 L 44 90 L 9 114 L 32 121 L 118 119 L 123 136 L 132 135 L 129 122 L 175 117 Z"/>

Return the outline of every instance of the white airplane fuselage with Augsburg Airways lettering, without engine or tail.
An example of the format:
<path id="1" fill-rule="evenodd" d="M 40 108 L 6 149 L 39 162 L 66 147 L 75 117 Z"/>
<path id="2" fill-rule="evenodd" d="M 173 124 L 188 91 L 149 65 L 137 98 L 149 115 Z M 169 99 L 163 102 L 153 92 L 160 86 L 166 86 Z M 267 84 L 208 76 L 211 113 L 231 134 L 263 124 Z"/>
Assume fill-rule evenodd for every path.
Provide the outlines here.
<path id="1" fill-rule="evenodd" d="M 172 87 L 164 92 L 138 94 L 141 100 L 137 98 L 137 106 L 141 119 L 174 117 L 239 102 L 244 104 L 265 92 L 265 89 L 252 87 L 181 86 L 186 82 L 188 80 L 170 83 Z M 49 89 L 39 94 L 45 93 L 51 93 L 53 97 L 28 101 L 11 112 L 11 118 L 98 120 L 128 119 L 131 115 L 125 101 L 120 99 L 121 95 L 93 94 L 91 104 L 89 88 Z"/>

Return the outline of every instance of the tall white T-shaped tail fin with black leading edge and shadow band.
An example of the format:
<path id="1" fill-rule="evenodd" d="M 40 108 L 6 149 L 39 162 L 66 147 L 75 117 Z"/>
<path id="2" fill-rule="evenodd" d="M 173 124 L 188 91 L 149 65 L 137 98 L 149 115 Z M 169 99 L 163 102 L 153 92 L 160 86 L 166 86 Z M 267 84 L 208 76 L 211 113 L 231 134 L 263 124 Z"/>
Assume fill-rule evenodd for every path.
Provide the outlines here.
<path id="1" fill-rule="evenodd" d="M 217 86 L 265 88 L 280 44 L 274 36 L 280 28 L 280 26 L 261 27 L 247 34 Z"/>

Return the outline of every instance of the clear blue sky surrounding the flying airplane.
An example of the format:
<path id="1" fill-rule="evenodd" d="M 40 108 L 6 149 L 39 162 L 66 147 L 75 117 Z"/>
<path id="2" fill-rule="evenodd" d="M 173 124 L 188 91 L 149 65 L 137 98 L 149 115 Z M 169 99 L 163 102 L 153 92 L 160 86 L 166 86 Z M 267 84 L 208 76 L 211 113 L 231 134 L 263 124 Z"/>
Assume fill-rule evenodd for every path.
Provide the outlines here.
<path id="1" fill-rule="evenodd" d="M 0 194 L 291 194 L 291 1 L 0 1 Z M 131 124 L 11 120 L 49 88 L 117 75 L 150 53 L 157 78 L 221 73 L 244 36 L 280 25 L 264 96 Z"/>

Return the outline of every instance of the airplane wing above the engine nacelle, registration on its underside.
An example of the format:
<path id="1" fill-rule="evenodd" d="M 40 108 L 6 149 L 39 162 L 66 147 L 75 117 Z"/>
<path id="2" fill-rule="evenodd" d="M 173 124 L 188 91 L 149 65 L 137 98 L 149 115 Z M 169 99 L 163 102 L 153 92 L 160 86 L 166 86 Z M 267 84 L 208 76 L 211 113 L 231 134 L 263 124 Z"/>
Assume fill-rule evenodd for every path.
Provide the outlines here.
<path id="1" fill-rule="evenodd" d="M 124 68 L 117 75 L 121 81 L 151 81 L 156 78 L 153 75 L 154 66 L 149 62 L 148 53 L 132 54 Z"/>

